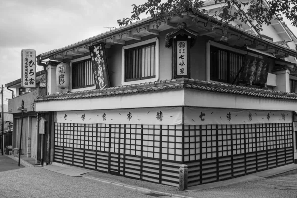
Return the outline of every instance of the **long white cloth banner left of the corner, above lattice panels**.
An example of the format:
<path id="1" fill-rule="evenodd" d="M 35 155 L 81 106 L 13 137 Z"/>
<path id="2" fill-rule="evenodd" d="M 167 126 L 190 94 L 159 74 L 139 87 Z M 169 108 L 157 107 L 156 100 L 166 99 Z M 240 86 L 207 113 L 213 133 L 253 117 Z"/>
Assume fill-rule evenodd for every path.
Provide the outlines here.
<path id="1" fill-rule="evenodd" d="M 78 124 L 182 124 L 182 108 L 59 111 L 57 122 Z"/>

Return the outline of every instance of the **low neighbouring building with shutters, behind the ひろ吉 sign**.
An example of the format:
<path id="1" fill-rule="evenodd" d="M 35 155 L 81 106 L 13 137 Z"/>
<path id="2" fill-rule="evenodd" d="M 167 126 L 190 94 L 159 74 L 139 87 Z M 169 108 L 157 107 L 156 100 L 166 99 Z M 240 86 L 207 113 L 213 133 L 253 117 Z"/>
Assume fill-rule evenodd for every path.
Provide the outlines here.
<path id="1" fill-rule="evenodd" d="M 24 100 L 24 107 L 27 108 L 23 118 L 22 130 L 22 154 L 36 159 L 37 153 L 37 113 L 35 112 L 35 100 L 40 95 L 46 94 L 45 71 L 36 73 L 35 89 L 22 88 L 21 79 L 5 84 L 6 88 L 15 89 L 16 97 L 8 100 L 8 113 L 13 115 L 12 149 L 19 148 L 21 131 L 21 106 Z"/>

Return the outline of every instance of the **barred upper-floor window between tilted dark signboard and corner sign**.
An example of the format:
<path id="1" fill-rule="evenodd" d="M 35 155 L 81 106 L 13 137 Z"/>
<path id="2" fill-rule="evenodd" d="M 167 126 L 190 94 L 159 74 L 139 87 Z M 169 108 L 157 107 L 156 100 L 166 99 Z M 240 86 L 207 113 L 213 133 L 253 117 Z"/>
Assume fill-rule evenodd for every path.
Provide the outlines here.
<path id="1" fill-rule="evenodd" d="M 155 78 L 156 42 L 125 49 L 125 82 Z"/>

